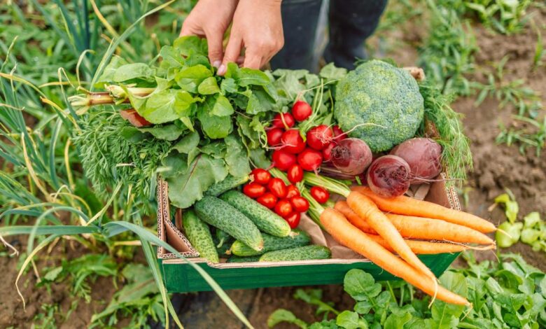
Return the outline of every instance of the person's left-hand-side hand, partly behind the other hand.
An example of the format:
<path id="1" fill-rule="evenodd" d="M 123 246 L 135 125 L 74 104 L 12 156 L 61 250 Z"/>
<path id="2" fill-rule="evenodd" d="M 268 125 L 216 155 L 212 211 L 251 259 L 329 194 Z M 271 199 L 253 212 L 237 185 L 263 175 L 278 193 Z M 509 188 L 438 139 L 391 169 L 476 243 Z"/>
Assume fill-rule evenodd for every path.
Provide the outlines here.
<path id="1" fill-rule="evenodd" d="M 209 60 L 218 68 L 224 57 L 223 38 L 238 0 L 200 0 L 184 20 L 180 36 L 201 36 L 209 44 Z M 234 61 L 235 62 L 235 61 Z"/>

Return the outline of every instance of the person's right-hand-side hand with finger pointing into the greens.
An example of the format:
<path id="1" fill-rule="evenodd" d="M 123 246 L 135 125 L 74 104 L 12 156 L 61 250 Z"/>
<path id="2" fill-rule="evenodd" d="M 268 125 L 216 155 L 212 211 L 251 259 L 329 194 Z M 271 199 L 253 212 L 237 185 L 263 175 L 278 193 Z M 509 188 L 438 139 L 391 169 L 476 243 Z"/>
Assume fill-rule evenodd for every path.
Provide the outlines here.
<path id="1" fill-rule="evenodd" d="M 284 45 L 280 0 L 239 0 L 218 74 L 244 51 L 244 67 L 260 69 Z"/>

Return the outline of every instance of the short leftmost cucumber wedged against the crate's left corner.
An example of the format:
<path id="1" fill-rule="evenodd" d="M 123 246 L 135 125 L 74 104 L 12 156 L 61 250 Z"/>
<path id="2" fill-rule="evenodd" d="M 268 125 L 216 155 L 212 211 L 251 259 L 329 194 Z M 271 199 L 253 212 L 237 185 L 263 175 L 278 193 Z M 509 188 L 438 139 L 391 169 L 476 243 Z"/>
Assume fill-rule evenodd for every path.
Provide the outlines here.
<path id="1" fill-rule="evenodd" d="M 212 241 L 209 225 L 201 221 L 193 210 L 188 210 L 184 211 L 183 226 L 186 237 L 193 248 L 199 251 L 199 255 L 210 262 L 218 262 L 218 253 Z"/>

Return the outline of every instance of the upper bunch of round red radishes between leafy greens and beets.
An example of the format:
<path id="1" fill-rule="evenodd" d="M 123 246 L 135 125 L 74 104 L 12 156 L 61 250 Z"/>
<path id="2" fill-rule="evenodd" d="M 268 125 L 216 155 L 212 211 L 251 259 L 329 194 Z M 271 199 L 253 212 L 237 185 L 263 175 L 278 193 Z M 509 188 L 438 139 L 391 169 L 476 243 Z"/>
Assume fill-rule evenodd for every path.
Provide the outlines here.
<path id="1" fill-rule="evenodd" d="M 267 130 L 267 144 L 274 149 L 273 164 L 287 172 L 291 183 L 301 181 L 304 170 L 314 172 L 322 162 L 329 161 L 335 143 L 346 137 L 338 126 L 317 125 L 307 132 L 304 141 L 300 130 L 293 127 L 311 113 L 307 102 L 297 101 L 291 113 L 278 113 Z"/>

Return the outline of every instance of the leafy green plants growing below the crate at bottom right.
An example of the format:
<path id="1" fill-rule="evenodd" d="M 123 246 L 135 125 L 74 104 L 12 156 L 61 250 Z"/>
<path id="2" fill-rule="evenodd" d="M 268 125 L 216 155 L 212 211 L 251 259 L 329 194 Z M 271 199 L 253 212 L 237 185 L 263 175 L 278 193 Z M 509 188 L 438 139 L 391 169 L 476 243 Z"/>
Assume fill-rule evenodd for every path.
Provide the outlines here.
<path id="1" fill-rule="evenodd" d="M 317 307 L 321 320 L 306 323 L 286 309 L 267 320 L 269 328 L 288 322 L 300 328 L 540 328 L 546 325 L 546 276 L 519 255 L 500 255 L 498 263 L 476 262 L 464 255 L 468 268 L 450 269 L 440 276 L 442 286 L 466 296 L 465 309 L 419 297 L 404 281 L 375 282 L 361 269 L 351 269 L 344 290 L 355 304 L 336 309 L 323 302 L 320 289 L 297 289 L 294 297 Z"/>

